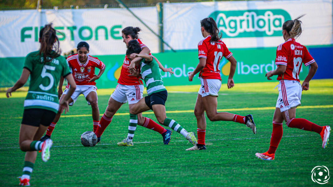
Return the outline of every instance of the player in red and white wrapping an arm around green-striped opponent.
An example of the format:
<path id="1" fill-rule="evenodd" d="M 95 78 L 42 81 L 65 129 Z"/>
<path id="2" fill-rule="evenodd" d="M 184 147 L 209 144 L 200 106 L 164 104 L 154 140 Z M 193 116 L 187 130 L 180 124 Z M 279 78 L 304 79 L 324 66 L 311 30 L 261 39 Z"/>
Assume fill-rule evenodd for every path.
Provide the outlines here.
<path id="1" fill-rule="evenodd" d="M 140 39 L 138 39 L 138 32 L 140 32 L 141 29 L 136 27 L 126 27 L 122 30 L 122 37 L 123 42 L 128 45 L 129 41 L 136 40 L 139 42 L 140 47 L 142 49 L 141 53 L 150 54 L 150 49 L 142 44 Z M 138 58 L 140 59 L 140 58 Z M 156 59 L 156 58 L 155 58 Z M 100 126 L 98 127 L 96 131 L 96 136 L 98 138 L 98 141 L 101 140 L 101 135 L 103 134 L 104 130 L 108 127 L 108 125 L 112 121 L 112 117 L 116 114 L 116 112 L 119 110 L 119 108 L 128 101 L 129 109 L 132 108 L 132 106 L 137 103 L 143 95 L 144 86 L 142 84 L 142 81 L 134 76 L 129 76 L 129 66 L 130 61 L 127 56 L 125 56 L 124 63 L 122 65 L 120 77 L 118 80 L 118 85 L 116 86 L 115 91 L 111 94 L 111 97 L 108 102 L 108 106 L 105 109 L 105 113 L 103 114 Z M 162 64 L 160 63 L 160 68 L 163 71 L 168 71 L 170 73 L 173 73 L 171 68 L 164 68 Z M 143 117 L 141 113 L 138 115 L 138 124 L 140 126 L 146 127 L 148 129 L 152 129 L 158 133 L 160 133 L 163 137 L 163 143 L 168 144 L 170 141 L 170 135 L 171 131 L 166 130 L 163 127 L 161 127 L 159 124 L 155 123 L 153 120 Z M 128 130 L 129 135 L 134 136 L 133 128 Z M 132 136 L 132 137 L 133 137 Z M 131 141 L 130 144 L 126 144 L 123 142 L 118 143 L 119 146 L 133 146 L 133 143 Z"/>

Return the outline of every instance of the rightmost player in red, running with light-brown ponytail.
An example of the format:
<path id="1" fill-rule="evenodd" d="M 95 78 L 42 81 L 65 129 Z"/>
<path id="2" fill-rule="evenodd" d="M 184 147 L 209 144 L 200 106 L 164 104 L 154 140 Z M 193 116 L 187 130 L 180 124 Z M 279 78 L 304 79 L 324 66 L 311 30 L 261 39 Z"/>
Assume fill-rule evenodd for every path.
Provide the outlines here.
<path id="1" fill-rule="evenodd" d="M 312 58 L 305 46 L 297 43 L 295 38 L 302 33 L 301 21 L 304 15 L 294 20 L 289 20 L 282 25 L 282 36 L 284 43 L 280 44 L 276 50 L 275 65 L 278 67 L 266 73 L 267 79 L 278 75 L 279 96 L 276 102 L 276 108 L 273 115 L 273 132 L 268 151 L 264 153 L 255 153 L 263 160 L 274 160 L 275 151 L 282 138 L 282 122 L 286 122 L 287 127 L 298 128 L 305 131 L 314 131 L 321 136 L 322 147 L 325 148 L 328 142 L 331 128 L 329 126 L 318 126 L 306 119 L 295 118 L 296 107 L 301 105 L 302 90 L 309 89 L 309 82 L 317 71 L 318 65 Z M 308 75 L 302 85 L 299 81 L 299 71 L 302 63 L 305 66 L 310 65 Z"/>

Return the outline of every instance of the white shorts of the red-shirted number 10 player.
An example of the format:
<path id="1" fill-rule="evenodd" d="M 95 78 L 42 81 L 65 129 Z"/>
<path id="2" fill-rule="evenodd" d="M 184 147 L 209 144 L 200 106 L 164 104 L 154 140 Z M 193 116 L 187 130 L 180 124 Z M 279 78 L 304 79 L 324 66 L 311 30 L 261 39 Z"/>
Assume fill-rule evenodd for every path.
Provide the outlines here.
<path id="1" fill-rule="evenodd" d="M 199 88 L 198 94 L 201 97 L 205 97 L 207 95 L 218 97 L 218 91 L 221 88 L 221 80 L 219 79 L 204 79 L 200 77 L 201 86 Z"/>

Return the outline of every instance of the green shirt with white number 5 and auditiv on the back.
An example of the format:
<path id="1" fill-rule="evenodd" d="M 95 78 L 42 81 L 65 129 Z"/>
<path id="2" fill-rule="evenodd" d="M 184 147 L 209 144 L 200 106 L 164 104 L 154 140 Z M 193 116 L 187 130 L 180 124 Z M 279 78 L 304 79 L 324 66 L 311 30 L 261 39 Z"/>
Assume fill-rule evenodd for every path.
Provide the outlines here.
<path id="1" fill-rule="evenodd" d="M 24 68 L 30 71 L 30 85 L 24 100 L 24 109 L 46 109 L 58 112 L 59 100 L 57 86 L 60 76 L 71 73 L 65 57 L 58 56 L 44 64 L 43 54 L 39 51 L 29 53 Z"/>

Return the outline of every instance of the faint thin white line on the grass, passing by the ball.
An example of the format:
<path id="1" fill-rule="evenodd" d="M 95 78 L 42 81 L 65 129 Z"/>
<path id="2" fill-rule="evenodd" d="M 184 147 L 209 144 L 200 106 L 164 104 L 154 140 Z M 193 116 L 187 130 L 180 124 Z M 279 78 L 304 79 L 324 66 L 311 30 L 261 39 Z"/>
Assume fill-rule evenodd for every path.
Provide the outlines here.
<path id="1" fill-rule="evenodd" d="M 305 137 L 303 135 L 298 136 L 283 136 L 282 138 L 294 138 L 294 137 Z M 230 138 L 230 139 L 211 139 L 205 141 L 223 141 L 223 140 L 252 140 L 252 139 L 270 139 L 271 137 L 259 137 L 259 138 Z M 176 140 L 172 142 L 182 142 L 187 140 Z M 143 141 L 143 142 L 133 142 L 134 144 L 145 144 L 145 143 L 161 143 L 161 141 Z M 117 145 L 117 143 L 99 143 L 97 145 Z M 191 146 L 191 144 L 189 144 Z M 82 147 L 82 145 L 57 145 L 52 147 Z M 19 149 L 20 147 L 0 147 L 1 149 Z"/>

